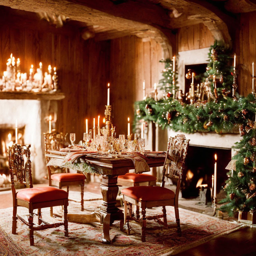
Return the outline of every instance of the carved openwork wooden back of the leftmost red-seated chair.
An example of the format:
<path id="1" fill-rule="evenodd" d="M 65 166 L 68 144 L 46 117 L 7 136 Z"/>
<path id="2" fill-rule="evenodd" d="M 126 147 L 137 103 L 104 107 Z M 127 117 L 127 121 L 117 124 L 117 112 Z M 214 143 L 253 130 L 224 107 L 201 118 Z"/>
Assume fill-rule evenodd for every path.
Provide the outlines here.
<path id="1" fill-rule="evenodd" d="M 16 188 L 33 187 L 29 148 L 30 145 L 18 144 L 9 147 L 9 170 L 13 196 L 16 196 Z"/>

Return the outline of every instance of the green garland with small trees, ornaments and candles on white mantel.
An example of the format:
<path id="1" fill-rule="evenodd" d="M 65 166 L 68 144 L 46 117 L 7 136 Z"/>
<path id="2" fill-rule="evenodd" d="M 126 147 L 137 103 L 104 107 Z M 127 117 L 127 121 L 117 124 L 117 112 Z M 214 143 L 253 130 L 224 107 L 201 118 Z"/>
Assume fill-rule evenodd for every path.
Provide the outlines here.
<path id="1" fill-rule="evenodd" d="M 186 133 L 216 132 L 238 133 L 246 126 L 247 116 L 255 114 L 256 99 L 254 88 L 247 97 L 239 96 L 236 82 L 236 60 L 230 66 L 230 50 L 221 42 L 215 41 L 209 51 L 209 63 L 202 83 L 194 86 L 194 73 L 189 70 L 186 78 L 191 88 L 186 96 L 177 90 L 173 97 L 173 64 L 165 62 L 160 89 L 164 97 L 155 100 L 145 97 L 135 102 L 134 128 L 140 122 L 153 121 L 162 128 Z M 175 76 L 177 72 L 175 71 Z M 254 85 L 254 79 L 253 79 Z M 166 92 L 168 92 L 166 94 Z M 242 128 L 241 128 L 242 126 Z"/>

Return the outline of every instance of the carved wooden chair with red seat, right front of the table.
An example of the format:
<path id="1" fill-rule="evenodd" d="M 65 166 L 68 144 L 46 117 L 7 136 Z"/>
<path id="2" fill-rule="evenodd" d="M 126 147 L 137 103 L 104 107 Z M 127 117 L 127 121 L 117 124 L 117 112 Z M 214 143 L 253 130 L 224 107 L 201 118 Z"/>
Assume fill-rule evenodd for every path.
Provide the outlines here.
<path id="1" fill-rule="evenodd" d="M 188 143 L 189 140 L 187 140 L 184 135 L 176 135 L 174 138 L 170 137 L 162 172 L 162 183 L 160 187 L 138 186 L 125 188 L 122 190 L 124 200 L 124 223 L 127 222 L 128 234 L 130 234 L 129 221 L 138 221 L 138 217 L 135 216 L 132 212 L 132 205 L 139 206 L 142 209 L 142 242 L 146 241 L 146 219 L 154 219 L 159 224 L 164 225 L 167 228 L 169 227 L 167 225 L 165 206 L 174 206 L 176 223 L 178 228 L 177 232 L 181 235 L 178 199 L 181 177 L 184 169 L 184 162 L 187 155 Z M 164 187 L 165 177 L 178 179 L 175 192 Z M 146 208 L 158 206 L 163 207 L 163 214 L 146 217 Z M 163 218 L 163 221 L 161 221 L 160 218 Z"/>

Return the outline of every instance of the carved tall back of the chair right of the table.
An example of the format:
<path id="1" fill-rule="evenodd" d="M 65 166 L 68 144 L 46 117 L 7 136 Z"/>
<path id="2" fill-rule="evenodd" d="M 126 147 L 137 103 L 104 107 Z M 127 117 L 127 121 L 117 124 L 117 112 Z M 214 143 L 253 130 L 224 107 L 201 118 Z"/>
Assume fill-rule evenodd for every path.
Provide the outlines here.
<path id="1" fill-rule="evenodd" d="M 178 134 L 175 137 L 169 138 L 168 149 L 162 172 L 162 187 L 164 187 L 165 177 L 177 178 L 177 189 L 178 186 L 180 186 L 185 159 L 187 156 L 188 144 L 189 140 L 187 140 L 183 134 Z"/>

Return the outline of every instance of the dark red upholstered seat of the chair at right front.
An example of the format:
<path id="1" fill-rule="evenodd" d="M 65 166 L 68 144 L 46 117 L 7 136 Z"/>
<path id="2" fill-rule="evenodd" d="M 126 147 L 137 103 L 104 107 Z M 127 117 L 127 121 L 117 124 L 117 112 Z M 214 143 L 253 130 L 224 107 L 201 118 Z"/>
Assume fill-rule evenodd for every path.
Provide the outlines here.
<path id="1" fill-rule="evenodd" d="M 140 201 L 168 200 L 175 197 L 175 193 L 164 187 L 138 186 L 122 189 L 122 194 Z"/>

